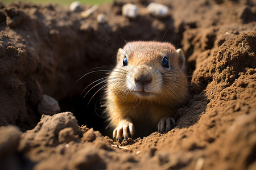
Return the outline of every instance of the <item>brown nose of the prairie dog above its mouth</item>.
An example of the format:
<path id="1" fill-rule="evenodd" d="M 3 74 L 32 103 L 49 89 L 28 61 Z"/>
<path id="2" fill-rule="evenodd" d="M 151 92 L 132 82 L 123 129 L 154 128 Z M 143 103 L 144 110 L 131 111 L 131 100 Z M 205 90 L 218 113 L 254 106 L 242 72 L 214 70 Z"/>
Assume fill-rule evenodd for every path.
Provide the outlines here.
<path id="1" fill-rule="evenodd" d="M 137 68 L 134 74 L 134 80 L 136 83 L 149 84 L 152 80 L 152 73 L 150 67 L 143 65 Z"/>

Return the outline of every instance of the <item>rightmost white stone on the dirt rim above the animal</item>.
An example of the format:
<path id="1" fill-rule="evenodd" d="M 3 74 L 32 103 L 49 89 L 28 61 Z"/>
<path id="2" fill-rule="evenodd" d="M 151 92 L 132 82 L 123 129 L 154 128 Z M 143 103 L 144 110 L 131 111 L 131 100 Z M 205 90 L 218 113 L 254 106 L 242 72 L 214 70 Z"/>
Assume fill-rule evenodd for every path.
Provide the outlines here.
<path id="1" fill-rule="evenodd" d="M 151 2 L 147 6 L 147 10 L 152 16 L 155 16 L 156 18 L 164 18 L 168 15 L 169 8 L 160 3 Z"/>

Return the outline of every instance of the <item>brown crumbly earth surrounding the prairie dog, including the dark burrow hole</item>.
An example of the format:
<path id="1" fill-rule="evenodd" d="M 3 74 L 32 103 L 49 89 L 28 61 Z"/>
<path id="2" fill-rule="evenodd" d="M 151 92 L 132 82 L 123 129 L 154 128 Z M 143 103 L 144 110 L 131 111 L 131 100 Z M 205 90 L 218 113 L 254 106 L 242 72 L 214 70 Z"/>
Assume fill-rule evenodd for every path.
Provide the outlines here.
<path id="1" fill-rule="evenodd" d="M 164 19 L 145 12 L 150 1 L 132 2 L 136 19 L 121 15 L 125 1 L 86 19 L 59 5 L 0 5 L 0 169 L 256 169 L 256 2 L 162 0 Z M 123 39 L 183 48 L 191 99 L 168 133 L 116 147 L 97 117 L 100 95 L 87 106 L 97 88 L 80 96 L 104 74 L 75 82 L 113 66 Z M 41 117 L 44 94 L 63 113 Z"/>

